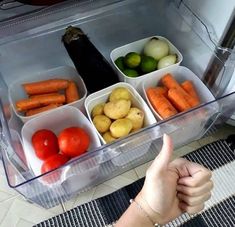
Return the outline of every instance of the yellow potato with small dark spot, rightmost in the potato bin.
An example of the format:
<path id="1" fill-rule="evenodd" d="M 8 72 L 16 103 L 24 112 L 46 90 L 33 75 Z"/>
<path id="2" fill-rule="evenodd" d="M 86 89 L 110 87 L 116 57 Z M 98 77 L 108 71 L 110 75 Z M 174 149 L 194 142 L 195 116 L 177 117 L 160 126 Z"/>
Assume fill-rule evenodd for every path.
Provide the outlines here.
<path id="1" fill-rule="evenodd" d="M 144 124 L 144 112 L 136 107 L 130 108 L 126 118 L 130 119 L 133 124 L 133 131 L 136 131 L 143 127 Z"/>

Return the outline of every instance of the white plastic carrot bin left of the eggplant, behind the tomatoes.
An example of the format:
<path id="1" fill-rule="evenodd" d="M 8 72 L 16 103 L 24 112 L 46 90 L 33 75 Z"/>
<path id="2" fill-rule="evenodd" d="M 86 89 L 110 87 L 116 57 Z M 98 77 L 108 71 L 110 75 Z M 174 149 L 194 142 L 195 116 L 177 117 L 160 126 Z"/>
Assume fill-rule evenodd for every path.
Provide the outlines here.
<path id="1" fill-rule="evenodd" d="M 16 101 L 20 99 L 28 98 L 26 92 L 24 91 L 22 84 L 23 83 L 30 83 L 30 82 L 37 82 L 41 80 L 48 80 L 48 79 L 66 79 L 66 80 L 73 80 L 75 81 L 78 92 L 80 95 L 80 99 L 78 101 L 63 105 L 63 106 L 75 106 L 79 108 L 81 111 L 84 112 L 84 101 L 87 96 L 87 89 L 82 80 L 82 78 L 78 75 L 77 71 L 71 66 L 60 66 L 57 68 L 49 69 L 39 73 L 28 74 L 27 76 L 16 80 L 9 86 L 9 99 L 12 105 L 15 114 L 23 121 L 26 122 L 35 116 L 43 114 L 35 114 L 33 116 L 25 116 L 22 112 L 19 112 L 15 106 Z M 60 108 L 60 107 L 57 107 Z"/>

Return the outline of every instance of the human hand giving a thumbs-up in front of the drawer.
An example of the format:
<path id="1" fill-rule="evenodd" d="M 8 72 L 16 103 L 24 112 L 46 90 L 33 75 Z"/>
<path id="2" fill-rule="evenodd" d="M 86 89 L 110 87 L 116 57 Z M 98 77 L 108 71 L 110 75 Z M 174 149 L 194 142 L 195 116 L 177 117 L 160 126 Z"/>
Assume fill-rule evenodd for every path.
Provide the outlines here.
<path id="1" fill-rule="evenodd" d="M 144 186 L 135 198 L 158 224 L 184 212 L 201 211 L 213 188 L 210 170 L 185 159 L 171 162 L 172 152 L 172 140 L 164 135 L 161 152 L 147 170 Z"/>

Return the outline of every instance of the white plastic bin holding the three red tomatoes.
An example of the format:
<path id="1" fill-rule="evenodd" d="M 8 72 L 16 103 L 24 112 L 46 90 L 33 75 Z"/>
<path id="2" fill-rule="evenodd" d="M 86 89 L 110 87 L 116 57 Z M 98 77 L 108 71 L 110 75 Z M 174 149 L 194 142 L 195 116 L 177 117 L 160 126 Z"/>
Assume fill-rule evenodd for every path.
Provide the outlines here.
<path id="1" fill-rule="evenodd" d="M 57 136 L 65 128 L 80 127 L 83 128 L 90 136 L 90 150 L 99 147 L 100 140 L 95 132 L 94 127 L 85 117 L 85 115 L 77 108 L 72 106 L 64 106 L 50 112 L 37 116 L 27 121 L 22 128 L 22 139 L 25 156 L 28 166 L 32 169 L 35 176 L 41 175 L 41 166 L 43 161 L 40 160 L 34 151 L 32 145 L 33 134 L 41 129 L 53 131 Z"/>

